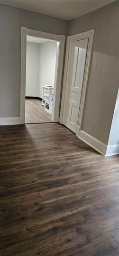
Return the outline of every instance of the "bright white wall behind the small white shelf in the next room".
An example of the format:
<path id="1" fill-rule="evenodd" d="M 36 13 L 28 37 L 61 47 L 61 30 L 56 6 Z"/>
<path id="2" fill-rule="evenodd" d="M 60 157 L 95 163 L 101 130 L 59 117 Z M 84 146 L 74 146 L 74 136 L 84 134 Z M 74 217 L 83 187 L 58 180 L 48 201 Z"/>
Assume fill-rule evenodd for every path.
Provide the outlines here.
<path id="1" fill-rule="evenodd" d="M 53 85 L 55 79 L 57 42 L 48 41 L 40 44 L 39 55 L 39 97 L 42 98 L 43 86 Z"/>

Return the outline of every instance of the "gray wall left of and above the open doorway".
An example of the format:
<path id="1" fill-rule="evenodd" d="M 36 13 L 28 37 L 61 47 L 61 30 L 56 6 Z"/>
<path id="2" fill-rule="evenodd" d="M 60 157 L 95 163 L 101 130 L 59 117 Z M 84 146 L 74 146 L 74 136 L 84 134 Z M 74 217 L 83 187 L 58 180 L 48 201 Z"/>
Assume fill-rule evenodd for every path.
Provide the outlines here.
<path id="1" fill-rule="evenodd" d="M 0 5 L 0 117 L 19 116 L 20 26 L 66 35 L 68 22 Z"/>

